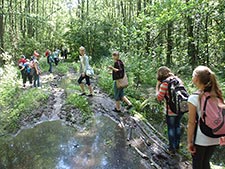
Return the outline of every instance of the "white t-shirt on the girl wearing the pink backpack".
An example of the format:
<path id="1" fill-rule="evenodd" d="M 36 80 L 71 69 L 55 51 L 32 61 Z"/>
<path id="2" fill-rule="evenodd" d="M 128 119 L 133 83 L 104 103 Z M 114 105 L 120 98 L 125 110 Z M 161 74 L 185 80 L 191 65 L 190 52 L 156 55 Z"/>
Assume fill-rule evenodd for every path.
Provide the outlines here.
<path id="1" fill-rule="evenodd" d="M 201 109 L 200 109 L 200 103 L 199 103 L 199 95 L 190 95 L 188 98 L 188 102 L 193 104 L 197 108 L 197 113 L 198 117 L 201 117 Z M 197 135 L 196 135 L 196 140 L 195 144 L 200 145 L 200 146 L 212 146 L 212 145 L 218 145 L 219 144 L 219 139 L 218 138 L 211 138 L 206 136 L 201 132 L 201 129 L 198 126 L 197 129 Z"/>

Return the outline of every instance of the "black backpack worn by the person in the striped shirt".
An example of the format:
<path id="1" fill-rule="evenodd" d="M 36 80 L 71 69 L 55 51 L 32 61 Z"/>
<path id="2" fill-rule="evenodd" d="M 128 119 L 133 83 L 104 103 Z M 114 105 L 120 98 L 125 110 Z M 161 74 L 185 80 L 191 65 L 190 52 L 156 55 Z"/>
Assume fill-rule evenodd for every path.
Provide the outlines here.
<path id="1" fill-rule="evenodd" d="M 166 97 L 167 105 L 175 114 L 182 115 L 188 112 L 188 92 L 177 78 L 165 80 L 168 83 L 169 97 Z"/>

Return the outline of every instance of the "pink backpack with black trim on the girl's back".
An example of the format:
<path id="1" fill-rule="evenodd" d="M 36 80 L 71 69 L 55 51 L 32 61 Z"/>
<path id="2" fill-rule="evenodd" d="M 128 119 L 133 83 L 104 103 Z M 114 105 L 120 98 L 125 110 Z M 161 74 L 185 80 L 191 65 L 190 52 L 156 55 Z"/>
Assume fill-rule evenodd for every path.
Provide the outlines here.
<path id="1" fill-rule="evenodd" d="M 212 138 L 225 136 L 225 104 L 205 92 L 201 97 L 199 126 L 203 134 Z"/>

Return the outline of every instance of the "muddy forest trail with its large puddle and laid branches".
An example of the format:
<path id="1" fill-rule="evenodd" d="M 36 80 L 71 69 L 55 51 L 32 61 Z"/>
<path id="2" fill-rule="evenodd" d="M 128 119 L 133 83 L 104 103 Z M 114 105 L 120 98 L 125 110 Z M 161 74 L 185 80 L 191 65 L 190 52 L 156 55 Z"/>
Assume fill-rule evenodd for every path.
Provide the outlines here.
<path id="1" fill-rule="evenodd" d="M 160 133 L 151 124 L 142 121 L 138 116 L 131 116 L 128 113 L 121 115 L 113 112 L 113 99 L 96 86 L 95 79 L 92 79 L 95 95 L 88 98 L 94 117 L 87 124 L 80 125 L 81 112 L 79 109 L 68 107 L 65 104 L 66 92 L 60 87 L 63 80 L 71 77 L 77 79 L 78 74 L 71 70 L 67 75 L 44 74 L 42 76 L 42 81 L 47 87 L 41 90 L 51 93 L 48 101 L 21 122 L 22 129 L 15 137 L 24 137 L 24 140 L 29 141 L 27 143 L 22 141 L 20 145 L 17 145 L 18 140 L 15 139 L 5 144 L 7 151 L 12 149 L 13 153 L 7 154 L 4 150 L 0 150 L 1 155 L 6 155 L 5 159 L 2 160 L 4 162 L 0 161 L 0 168 L 191 168 L 190 163 L 182 155 L 171 156 L 167 152 L 165 140 L 161 139 Z M 42 124 L 43 126 L 40 127 L 39 125 Z M 60 128 L 63 128 L 63 130 Z M 36 131 L 30 131 L 29 133 L 30 129 Z M 47 129 L 49 131 L 46 131 Z M 23 134 L 24 130 L 28 130 L 28 132 Z M 31 133 L 35 132 L 37 133 L 33 136 Z M 56 145 L 57 155 L 61 155 L 54 160 L 55 165 L 53 166 L 48 165 L 48 162 L 57 155 L 52 153 L 45 157 L 48 152 L 41 153 L 43 149 L 46 149 L 46 145 L 40 144 L 45 138 L 39 139 L 46 135 L 46 132 L 48 133 L 48 136 L 46 136 L 48 137 L 46 138 L 48 143 L 50 139 L 53 140 L 52 137 L 57 141 L 62 140 L 59 145 Z M 60 133 L 59 138 L 56 137 L 57 133 Z M 38 135 L 40 137 L 37 137 Z M 68 140 L 65 141 L 67 138 Z M 32 148 L 34 144 L 38 144 L 37 155 L 34 155 L 36 148 Z M 28 145 L 30 150 L 24 150 L 24 147 L 29 147 Z M 48 146 L 52 149 L 54 147 L 53 143 L 49 143 Z M 14 149 L 14 147 L 17 147 L 17 149 Z M 20 150 L 21 147 L 23 150 Z M 60 147 L 60 150 L 58 147 Z M 55 149 L 52 151 L 56 152 Z M 32 152 L 32 155 L 26 157 L 28 159 L 18 157 L 23 153 L 28 154 L 30 152 Z M 41 157 L 44 159 L 40 164 L 34 165 L 35 162 L 31 162 L 31 159 L 35 161 L 35 159 Z"/>

